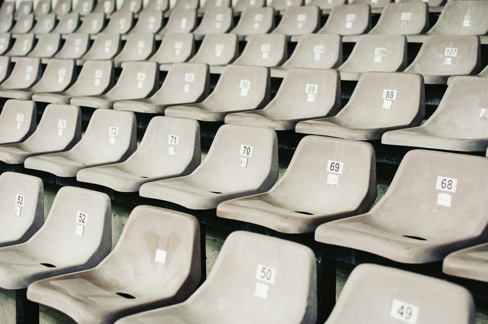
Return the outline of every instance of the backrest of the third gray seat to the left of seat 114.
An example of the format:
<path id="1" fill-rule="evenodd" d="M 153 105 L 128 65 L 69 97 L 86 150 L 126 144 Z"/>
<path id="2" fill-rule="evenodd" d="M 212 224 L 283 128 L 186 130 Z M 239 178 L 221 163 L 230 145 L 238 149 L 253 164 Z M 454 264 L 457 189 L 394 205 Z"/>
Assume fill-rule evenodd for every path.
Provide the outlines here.
<path id="1" fill-rule="evenodd" d="M 163 36 L 163 41 L 158 51 L 151 56 L 149 61 L 158 63 L 186 62 L 195 54 L 195 36 L 188 34 L 168 33 Z"/>

